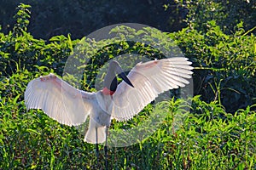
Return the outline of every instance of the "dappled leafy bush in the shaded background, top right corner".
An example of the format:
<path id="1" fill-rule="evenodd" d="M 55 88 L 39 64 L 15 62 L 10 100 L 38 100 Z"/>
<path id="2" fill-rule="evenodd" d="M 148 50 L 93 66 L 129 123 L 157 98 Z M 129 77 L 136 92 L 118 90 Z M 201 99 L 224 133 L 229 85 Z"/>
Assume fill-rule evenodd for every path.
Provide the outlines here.
<path id="1" fill-rule="evenodd" d="M 255 29 L 256 3 L 250 0 L 177 0 L 182 8 L 188 10 L 186 23 L 199 31 L 208 30 L 208 21 L 215 20 L 227 34 L 236 32 L 236 25 L 244 23 L 246 30 Z M 255 33 L 255 30 L 252 30 Z"/>

